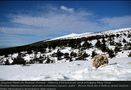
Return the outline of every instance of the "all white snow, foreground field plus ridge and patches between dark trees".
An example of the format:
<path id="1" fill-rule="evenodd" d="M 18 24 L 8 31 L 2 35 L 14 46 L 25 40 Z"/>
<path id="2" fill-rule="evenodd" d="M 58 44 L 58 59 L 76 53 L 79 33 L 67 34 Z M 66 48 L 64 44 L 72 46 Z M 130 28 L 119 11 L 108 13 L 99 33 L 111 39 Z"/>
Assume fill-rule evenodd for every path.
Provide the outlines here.
<path id="1" fill-rule="evenodd" d="M 121 33 L 122 32 L 122 33 Z M 130 38 L 124 35 L 124 33 L 131 32 L 131 28 L 123 28 L 117 30 L 110 30 L 105 32 L 98 33 L 82 33 L 82 34 L 69 34 L 62 37 L 54 38 L 56 39 L 77 39 L 82 37 L 96 36 L 96 35 L 108 35 L 108 34 L 121 34 L 119 37 L 114 37 L 114 43 L 122 44 L 122 51 L 118 52 L 113 59 L 109 60 L 109 64 L 102 66 L 98 69 L 92 67 L 91 55 L 92 51 L 95 51 L 97 54 L 108 54 L 102 52 L 100 49 L 95 47 L 97 40 L 91 40 L 89 43 L 93 47 L 84 49 L 83 52 L 86 52 L 90 56 L 87 57 L 87 61 L 79 60 L 69 62 L 63 58 L 62 60 L 57 60 L 57 57 L 52 57 L 53 53 L 56 53 L 58 49 L 62 53 L 79 53 L 79 49 L 73 49 L 71 47 L 56 47 L 55 49 L 46 48 L 45 53 L 35 52 L 28 54 L 26 51 L 21 52 L 25 54 L 23 57 L 24 60 L 29 62 L 35 57 L 39 58 L 40 56 L 48 56 L 55 63 L 53 64 L 28 64 L 26 66 L 22 65 L 0 65 L 0 80 L 131 80 L 131 58 L 128 57 L 131 50 L 124 50 L 123 47 L 127 43 L 123 42 L 125 39 L 127 42 L 131 42 Z M 102 39 L 99 39 L 102 41 Z M 114 50 L 115 45 L 110 45 L 108 39 L 105 39 L 106 45 L 109 49 Z M 81 45 L 85 41 L 81 41 Z M 8 57 L 0 56 L 0 63 L 4 64 L 6 60 L 9 60 L 10 63 L 13 62 L 12 58 L 16 58 L 18 53 L 9 54 Z M 64 56 L 62 56 L 64 57 Z M 75 60 L 75 58 L 72 58 Z M 46 61 L 46 60 L 45 60 Z M 44 61 L 44 62 L 45 62 Z"/>

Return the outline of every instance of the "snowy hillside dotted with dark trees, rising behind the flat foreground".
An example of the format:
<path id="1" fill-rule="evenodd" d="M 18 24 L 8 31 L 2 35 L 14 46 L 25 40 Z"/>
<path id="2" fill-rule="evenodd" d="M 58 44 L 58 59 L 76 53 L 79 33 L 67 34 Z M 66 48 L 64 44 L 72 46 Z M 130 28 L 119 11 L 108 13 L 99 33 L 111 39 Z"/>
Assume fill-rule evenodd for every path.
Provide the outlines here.
<path id="1" fill-rule="evenodd" d="M 128 57 L 131 53 L 131 28 L 98 33 L 73 33 L 49 41 L 42 41 L 35 45 L 3 50 L 0 55 L 0 64 L 6 64 L 6 62 L 8 64 L 9 61 L 9 64 L 12 65 L 18 57 L 30 64 L 88 60 L 94 56 L 93 52 L 95 54 L 106 54 L 108 58 Z M 19 64 L 19 59 L 16 62 Z"/>

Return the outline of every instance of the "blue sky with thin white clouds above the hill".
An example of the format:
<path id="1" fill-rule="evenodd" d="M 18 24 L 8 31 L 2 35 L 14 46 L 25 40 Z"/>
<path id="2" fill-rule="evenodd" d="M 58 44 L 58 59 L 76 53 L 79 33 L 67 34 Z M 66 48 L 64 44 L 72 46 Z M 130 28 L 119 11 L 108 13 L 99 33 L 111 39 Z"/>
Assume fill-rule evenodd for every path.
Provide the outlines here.
<path id="1" fill-rule="evenodd" d="M 0 1 L 0 47 L 131 27 L 131 1 Z"/>

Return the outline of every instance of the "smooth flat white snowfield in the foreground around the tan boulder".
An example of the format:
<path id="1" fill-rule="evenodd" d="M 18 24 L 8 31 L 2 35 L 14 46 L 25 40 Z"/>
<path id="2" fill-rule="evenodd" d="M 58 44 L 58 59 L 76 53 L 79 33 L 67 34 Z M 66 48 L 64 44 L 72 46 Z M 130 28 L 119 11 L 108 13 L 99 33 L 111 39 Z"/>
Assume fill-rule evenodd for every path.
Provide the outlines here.
<path id="1" fill-rule="evenodd" d="M 0 65 L 0 80 L 131 80 L 131 57 L 113 58 L 98 69 L 92 61 Z"/>

